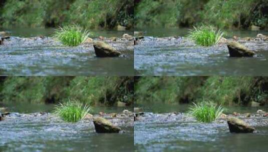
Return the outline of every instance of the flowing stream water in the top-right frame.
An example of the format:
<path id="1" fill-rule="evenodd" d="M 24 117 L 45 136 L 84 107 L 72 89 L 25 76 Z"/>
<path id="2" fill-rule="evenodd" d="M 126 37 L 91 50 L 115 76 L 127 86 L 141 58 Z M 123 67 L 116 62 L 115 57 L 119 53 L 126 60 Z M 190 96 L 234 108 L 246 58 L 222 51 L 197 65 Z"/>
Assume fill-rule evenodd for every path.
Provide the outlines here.
<path id="1" fill-rule="evenodd" d="M 267 31 L 228 31 L 228 37 L 252 36 Z M 145 38 L 134 47 L 134 68 L 137 75 L 268 75 L 268 42 L 244 44 L 256 50 L 252 58 L 229 57 L 226 44 L 197 46 L 185 38 L 159 39 L 162 36 L 185 36 L 186 29 L 148 29 Z M 153 37 L 152 37 L 153 36 Z"/>

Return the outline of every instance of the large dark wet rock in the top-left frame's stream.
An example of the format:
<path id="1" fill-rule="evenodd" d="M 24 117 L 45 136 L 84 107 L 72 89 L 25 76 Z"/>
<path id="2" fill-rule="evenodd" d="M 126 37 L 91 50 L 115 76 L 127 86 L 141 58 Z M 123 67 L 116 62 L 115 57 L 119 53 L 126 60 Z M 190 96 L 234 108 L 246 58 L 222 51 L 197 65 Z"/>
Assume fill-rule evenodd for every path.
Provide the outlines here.
<path id="1" fill-rule="evenodd" d="M 116 51 L 111 45 L 103 42 L 97 41 L 93 45 L 95 49 L 95 54 L 98 57 L 115 57 L 119 56 L 121 53 Z"/>

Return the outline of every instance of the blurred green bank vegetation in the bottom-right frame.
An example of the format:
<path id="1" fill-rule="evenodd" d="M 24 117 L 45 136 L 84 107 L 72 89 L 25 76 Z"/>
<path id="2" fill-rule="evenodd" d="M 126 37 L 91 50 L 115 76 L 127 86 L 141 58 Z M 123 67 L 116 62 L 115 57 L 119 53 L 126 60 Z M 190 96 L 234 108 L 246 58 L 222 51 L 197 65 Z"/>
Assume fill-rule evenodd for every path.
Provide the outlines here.
<path id="1" fill-rule="evenodd" d="M 206 100 L 223 105 L 268 103 L 268 77 L 143 76 L 135 77 L 135 103 L 191 103 Z"/>

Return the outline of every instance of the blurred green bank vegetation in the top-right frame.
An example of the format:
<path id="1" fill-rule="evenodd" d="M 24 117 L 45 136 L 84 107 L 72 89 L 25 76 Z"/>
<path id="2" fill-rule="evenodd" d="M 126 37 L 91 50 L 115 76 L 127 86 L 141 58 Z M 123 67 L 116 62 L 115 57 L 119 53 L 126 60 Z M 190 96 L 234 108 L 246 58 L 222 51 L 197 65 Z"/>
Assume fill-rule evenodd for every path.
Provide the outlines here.
<path id="1" fill-rule="evenodd" d="M 135 0 L 135 25 L 220 28 L 268 28 L 267 0 Z"/>

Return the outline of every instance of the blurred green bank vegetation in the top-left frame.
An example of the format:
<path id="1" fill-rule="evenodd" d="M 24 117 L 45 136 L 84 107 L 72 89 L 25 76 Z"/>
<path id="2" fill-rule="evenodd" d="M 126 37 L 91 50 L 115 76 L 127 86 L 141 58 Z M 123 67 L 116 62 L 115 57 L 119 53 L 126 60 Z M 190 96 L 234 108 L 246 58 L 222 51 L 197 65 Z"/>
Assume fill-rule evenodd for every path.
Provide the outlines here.
<path id="1" fill-rule="evenodd" d="M 133 26 L 133 0 L 1 0 L 0 27 Z"/>

